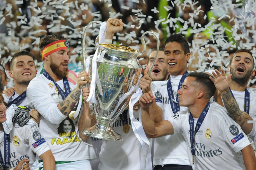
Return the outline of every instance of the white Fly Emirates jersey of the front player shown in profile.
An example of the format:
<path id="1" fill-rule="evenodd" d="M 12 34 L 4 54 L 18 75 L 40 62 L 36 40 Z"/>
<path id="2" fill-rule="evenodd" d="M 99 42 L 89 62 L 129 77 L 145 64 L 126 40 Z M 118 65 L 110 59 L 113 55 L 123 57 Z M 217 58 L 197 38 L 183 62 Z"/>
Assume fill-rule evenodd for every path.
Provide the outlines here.
<path id="1" fill-rule="evenodd" d="M 174 134 L 182 133 L 187 150 L 190 150 L 189 111 L 168 118 L 173 124 Z M 197 119 L 194 120 L 197 123 Z M 194 125 L 195 128 L 195 125 Z M 194 137 L 195 162 L 198 170 L 244 170 L 241 152 L 250 144 L 241 127 L 217 103 L 210 104 L 209 111 Z M 190 161 L 191 159 L 190 151 Z"/>

